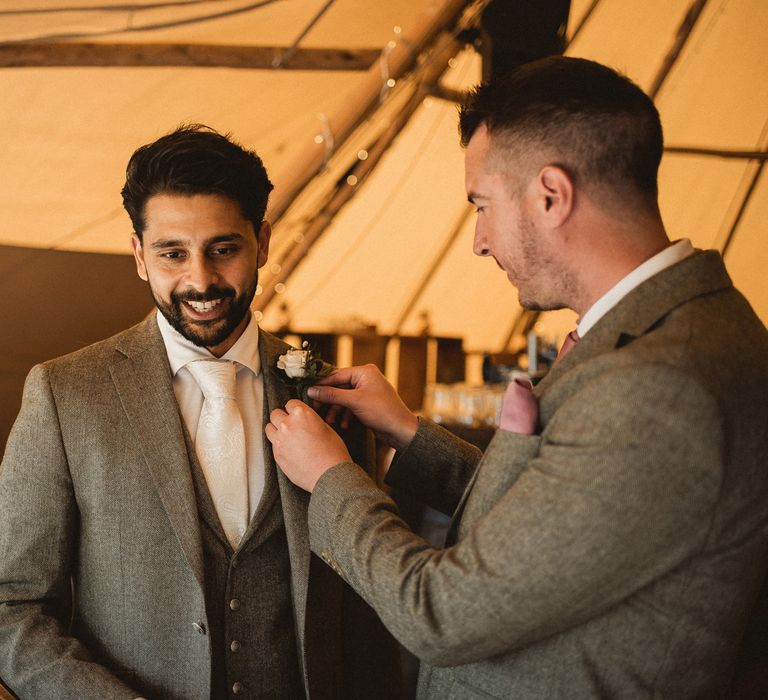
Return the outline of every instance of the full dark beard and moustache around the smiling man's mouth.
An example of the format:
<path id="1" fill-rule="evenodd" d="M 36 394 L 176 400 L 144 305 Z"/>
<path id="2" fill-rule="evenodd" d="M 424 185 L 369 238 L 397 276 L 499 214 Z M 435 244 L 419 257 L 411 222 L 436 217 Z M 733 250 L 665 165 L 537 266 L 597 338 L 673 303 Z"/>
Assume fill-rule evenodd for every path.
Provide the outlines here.
<path id="1" fill-rule="evenodd" d="M 204 292 L 192 290 L 173 292 L 170 303 L 158 298 L 151 285 L 150 292 L 160 313 L 165 316 L 165 319 L 175 330 L 195 345 L 209 348 L 223 343 L 240 325 L 251 308 L 257 284 L 258 275 L 255 275 L 252 284 L 240 295 L 235 294 L 232 287 L 217 287 L 215 285 L 211 285 Z M 183 304 L 185 301 L 205 302 L 217 299 L 221 299 L 222 304 L 226 304 L 228 307 L 223 317 L 210 321 L 197 321 L 184 313 Z"/>

